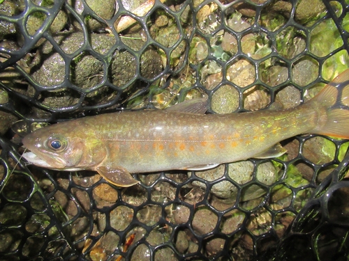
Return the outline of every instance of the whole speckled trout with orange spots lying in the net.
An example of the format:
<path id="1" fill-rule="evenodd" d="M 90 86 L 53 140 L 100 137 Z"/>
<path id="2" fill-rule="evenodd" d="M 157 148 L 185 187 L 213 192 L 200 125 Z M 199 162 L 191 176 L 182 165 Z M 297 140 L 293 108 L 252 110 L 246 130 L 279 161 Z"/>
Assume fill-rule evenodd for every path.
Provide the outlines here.
<path id="1" fill-rule="evenodd" d="M 206 102 L 207 103 L 207 102 Z M 299 134 L 349 139 L 349 69 L 318 95 L 289 109 L 205 113 L 205 101 L 169 109 L 122 111 L 59 122 L 24 136 L 29 164 L 57 171 L 96 171 L 118 187 L 131 173 L 198 171 L 285 153 L 280 141 Z"/>

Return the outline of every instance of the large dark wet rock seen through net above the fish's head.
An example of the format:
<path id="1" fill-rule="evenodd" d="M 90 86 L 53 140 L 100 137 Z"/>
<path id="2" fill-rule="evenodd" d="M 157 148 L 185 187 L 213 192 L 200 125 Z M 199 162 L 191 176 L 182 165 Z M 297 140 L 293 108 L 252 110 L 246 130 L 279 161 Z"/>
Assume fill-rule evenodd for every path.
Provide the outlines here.
<path id="1" fill-rule="evenodd" d="M 54 38 L 59 43 L 61 49 L 67 54 L 72 54 L 84 42 L 82 33 L 66 33 Z M 115 38 L 111 35 L 92 34 L 91 45 L 100 54 L 106 54 L 114 45 Z M 133 45 L 143 45 L 140 40 L 135 40 Z M 40 50 L 42 63 L 34 69 L 33 78 L 41 86 L 55 86 L 61 84 L 65 79 L 66 63 L 58 52 L 55 52 L 50 42 L 46 42 Z M 129 52 L 119 52 L 116 50 L 112 54 L 110 65 L 110 77 L 112 84 L 124 86 L 135 77 L 136 63 L 135 57 Z M 161 72 L 161 63 L 158 54 L 153 49 L 147 49 L 141 56 L 140 72 L 143 77 L 152 78 Z M 103 63 L 87 52 L 76 56 L 70 63 L 70 81 L 86 91 L 87 98 L 85 104 L 103 104 L 117 97 L 117 91 L 102 86 L 105 68 Z M 132 88 L 130 86 L 129 88 Z M 129 89 L 128 88 L 128 89 Z M 28 89 L 28 95 L 36 94 L 34 88 Z M 51 109 L 60 109 L 74 106 L 80 102 L 80 93 L 73 89 L 61 88 L 41 92 L 39 100 Z M 34 109 L 39 118 L 47 117 L 47 113 Z"/>

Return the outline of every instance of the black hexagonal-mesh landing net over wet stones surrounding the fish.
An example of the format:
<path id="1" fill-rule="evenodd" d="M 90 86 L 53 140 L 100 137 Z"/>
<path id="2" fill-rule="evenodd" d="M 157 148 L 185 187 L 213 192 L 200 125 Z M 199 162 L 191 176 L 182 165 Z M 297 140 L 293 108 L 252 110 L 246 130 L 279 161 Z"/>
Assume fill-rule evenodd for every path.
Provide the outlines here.
<path id="1" fill-rule="evenodd" d="M 297 106 L 346 69 L 348 4 L 0 1 L 0 260 L 348 260 L 346 141 L 296 136 L 276 159 L 126 189 L 20 158 L 21 136 L 71 118 Z"/>

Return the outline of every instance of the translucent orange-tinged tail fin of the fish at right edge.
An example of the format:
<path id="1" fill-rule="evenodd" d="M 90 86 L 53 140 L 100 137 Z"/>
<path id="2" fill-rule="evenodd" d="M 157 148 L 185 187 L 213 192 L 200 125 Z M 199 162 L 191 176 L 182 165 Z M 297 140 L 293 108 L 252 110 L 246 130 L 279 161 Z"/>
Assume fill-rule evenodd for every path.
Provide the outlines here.
<path id="1" fill-rule="evenodd" d="M 321 104 L 327 111 L 325 124 L 322 122 L 312 133 L 349 139 L 349 69 L 327 84 L 311 102 Z"/>

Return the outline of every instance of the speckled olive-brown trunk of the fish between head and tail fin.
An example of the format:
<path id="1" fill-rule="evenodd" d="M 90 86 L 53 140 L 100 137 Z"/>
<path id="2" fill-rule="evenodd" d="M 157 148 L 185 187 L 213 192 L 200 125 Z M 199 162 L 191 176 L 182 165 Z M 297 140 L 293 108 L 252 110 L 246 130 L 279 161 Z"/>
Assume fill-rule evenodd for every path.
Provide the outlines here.
<path id="1" fill-rule="evenodd" d="M 59 134 L 64 129 L 80 139 L 89 148 L 82 158 L 85 163 L 77 165 L 84 169 L 105 161 L 108 166 L 115 163 L 131 173 L 144 173 L 248 159 L 313 129 L 318 112 L 310 109 L 222 115 L 123 112 L 59 123 L 45 132 Z M 90 157 L 94 154 L 97 157 Z"/>

